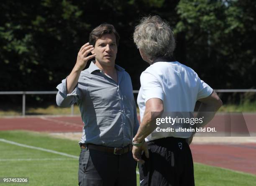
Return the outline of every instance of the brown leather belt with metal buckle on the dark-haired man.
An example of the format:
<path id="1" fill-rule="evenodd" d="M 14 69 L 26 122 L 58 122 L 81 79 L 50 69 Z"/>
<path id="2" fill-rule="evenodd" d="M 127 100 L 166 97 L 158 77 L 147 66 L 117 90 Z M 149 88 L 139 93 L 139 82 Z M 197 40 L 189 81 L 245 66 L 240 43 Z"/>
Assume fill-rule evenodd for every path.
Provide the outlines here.
<path id="1" fill-rule="evenodd" d="M 92 149 L 92 150 L 98 150 L 101 152 L 105 153 L 110 153 L 110 154 L 125 154 L 130 152 L 133 149 L 133 145 L 128 145 L 123 148 L 114 148 L 114 147 L 105 147 L 105 146 L 100 146 L 100 145 L 94 145 L 94 144 L 81 144 L 81 148 L 87 148 L 87 149 Z"/>

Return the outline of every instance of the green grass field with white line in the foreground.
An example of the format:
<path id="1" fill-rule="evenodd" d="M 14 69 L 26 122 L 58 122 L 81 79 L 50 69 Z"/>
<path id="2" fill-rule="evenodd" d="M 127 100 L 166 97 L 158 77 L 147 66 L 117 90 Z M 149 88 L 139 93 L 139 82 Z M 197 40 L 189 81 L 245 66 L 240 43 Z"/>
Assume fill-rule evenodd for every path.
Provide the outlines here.
<path id="1" fill-rule="evenodd" d="M 77 141 L 25 131 L 0 131 L 0 138 L 79 156 Z M 195 163 L 196 186 L 255 186 L 256 176 Z M 0 141 L 0 177 L 29 177 L 29 186 L 74 186 L 78 159 Z M 138 175 L 137 181 L 139 185 Z M 0 185 L 17 185 L 3 184 Z M 23 184 L 21 184 L 23 185 Z"/>

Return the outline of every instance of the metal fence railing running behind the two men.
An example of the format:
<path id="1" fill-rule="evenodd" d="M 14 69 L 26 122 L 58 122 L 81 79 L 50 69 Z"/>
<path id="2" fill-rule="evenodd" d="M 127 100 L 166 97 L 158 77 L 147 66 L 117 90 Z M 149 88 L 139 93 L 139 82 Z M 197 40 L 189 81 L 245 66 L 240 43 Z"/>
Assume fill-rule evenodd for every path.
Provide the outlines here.
<path id="1" fill-rule="evenodd" d="M 2 91 L 0 95 L 22 94 L 22 115 L 26 115 L 26 94 L 57 94 L 58 91 Z M 215 89 L 215 92 L 256 92 L 256 89 Z M 133 94 L 138 90 L 133 90 Z M 71 106 L 71 115 L 74 115 L 74 104 Z"/>

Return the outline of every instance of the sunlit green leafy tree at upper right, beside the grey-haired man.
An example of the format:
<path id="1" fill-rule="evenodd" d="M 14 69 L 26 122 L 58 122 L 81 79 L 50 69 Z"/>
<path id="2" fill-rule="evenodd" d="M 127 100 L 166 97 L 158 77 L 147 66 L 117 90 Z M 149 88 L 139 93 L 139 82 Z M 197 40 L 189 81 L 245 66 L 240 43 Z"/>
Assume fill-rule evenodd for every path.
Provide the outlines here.
<path id="1" fill-rule="evenodd" d="M 214 88 L 253 88 L 255 10 L 251 1 L 181 0 L 175 33 L 182 61 Z"/>

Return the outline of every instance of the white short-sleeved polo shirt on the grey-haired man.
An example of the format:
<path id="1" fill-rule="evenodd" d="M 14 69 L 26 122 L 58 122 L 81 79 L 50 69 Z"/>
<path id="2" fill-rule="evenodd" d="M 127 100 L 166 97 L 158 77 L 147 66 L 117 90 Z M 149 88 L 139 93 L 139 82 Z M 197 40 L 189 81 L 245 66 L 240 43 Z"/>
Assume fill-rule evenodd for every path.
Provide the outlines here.
<path id="1" fill-rule="evenodd" d="M 163 100 L 164 112 L 193 112 L 196 101 L 209 96 L 212 91 L 193 69 L 178 61 L 156 62 L 141 74 L 141 88 L 137 99 L 141 121 L 148 99 Z M 164 132 L 162 136 L 154 135 L 154 132 L 148 135 L 146 141 L 169 136 L 180 138 L 176 132 Z"/>

